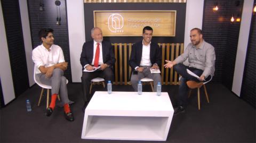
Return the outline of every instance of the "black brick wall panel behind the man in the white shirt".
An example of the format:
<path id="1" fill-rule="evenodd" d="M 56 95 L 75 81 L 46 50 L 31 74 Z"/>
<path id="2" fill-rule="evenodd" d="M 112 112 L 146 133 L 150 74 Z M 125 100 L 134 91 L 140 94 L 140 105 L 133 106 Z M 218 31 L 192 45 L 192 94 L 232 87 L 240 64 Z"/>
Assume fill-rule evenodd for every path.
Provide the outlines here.
<path id="1" fill-rule="evenodd" d="M 33 48 L 41 45 L 38 39 L 38 31 L 41 28 L 52 28 L 54 30 L 54 44 L 59 45 L 64 53 L 65 61 L 69 63 L 68 69 L 65 71 L 65 77 L 71 82 L 71 68 L 68 42 L 68 26 L 66 15 L 66 1 L 60 1 L 61 25 L 56 25 L 57 7 L 55 1 L 34 1 L 28 0 L 29 21 L 32 37 Z M 44 11 L 39 11 L 40 3 L 44 6 Z M 79 62 L 79 61 L 77 61 Z"/>

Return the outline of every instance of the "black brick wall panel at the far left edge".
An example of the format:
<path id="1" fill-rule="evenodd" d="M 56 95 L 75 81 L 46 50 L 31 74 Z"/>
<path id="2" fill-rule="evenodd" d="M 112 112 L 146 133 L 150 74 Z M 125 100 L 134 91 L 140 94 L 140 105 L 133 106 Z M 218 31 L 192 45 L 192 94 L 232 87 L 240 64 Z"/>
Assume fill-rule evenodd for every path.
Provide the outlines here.
<path id="1" fill-rule="evenodd" d="M 15 96 L 29 88 L 19 1 L 1 0 Z M 3 34 L 3 33 L 1 33 Z M 4 62 L 4 61 L 1 61 Z"/>

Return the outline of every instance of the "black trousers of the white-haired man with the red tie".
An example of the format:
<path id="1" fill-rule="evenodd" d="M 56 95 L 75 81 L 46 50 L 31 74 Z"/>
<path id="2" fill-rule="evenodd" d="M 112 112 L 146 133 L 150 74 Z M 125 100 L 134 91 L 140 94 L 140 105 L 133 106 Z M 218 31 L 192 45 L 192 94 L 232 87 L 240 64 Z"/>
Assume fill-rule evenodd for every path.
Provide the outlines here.
<path id="1" fill-rule="evenodd" d="M 97 77 L 105 79 L 106 85 L 109 80 L 112 83 L 114 81 L 114 73 L 112 68 L 107 67 L 103 71 L 99 70 L 95 72 L 83 72 L 81 80 L 82 80 L 84 102 L 90 102 L 92 98 L 92 96 L 90 95 L 91 80 Z M 105 86 L 105 90 L 107 90 L 107 86 Z"/>

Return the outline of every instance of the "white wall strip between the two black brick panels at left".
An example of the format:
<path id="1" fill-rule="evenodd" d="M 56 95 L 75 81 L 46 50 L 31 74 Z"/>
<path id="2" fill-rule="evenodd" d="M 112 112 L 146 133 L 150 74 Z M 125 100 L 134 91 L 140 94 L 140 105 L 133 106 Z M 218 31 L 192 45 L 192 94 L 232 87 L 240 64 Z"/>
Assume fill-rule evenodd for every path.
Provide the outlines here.
<path id="1" fill-rule="evenodd" d="M 32 42 L 31 42 L 30 27 L 29 27 L 27 0 L 19 0 L 19 5 L 20 5 L 20 16 L 21 16 L 23 40 L 24 40 L 27 69 L 28 69 L 29 87 L 31 87 L 35 84 L 35 81 L 33 77 L 34 63 L 32 61 Z"/>

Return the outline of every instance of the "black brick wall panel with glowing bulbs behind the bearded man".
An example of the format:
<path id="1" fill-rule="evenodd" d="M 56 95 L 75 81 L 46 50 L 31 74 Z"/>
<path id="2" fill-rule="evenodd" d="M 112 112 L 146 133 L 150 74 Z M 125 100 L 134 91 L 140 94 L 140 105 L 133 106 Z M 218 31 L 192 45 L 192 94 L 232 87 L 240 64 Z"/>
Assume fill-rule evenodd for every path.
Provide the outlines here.
<path id="1" fill-rule="evenodd" d="M 203 33 L 204 39 L 215 47 L 215 75 L 213 82 L 223 83 L 231 90 L 240 22 L 230 22 L 231 14 L 242 11 L 243 1 L 236 6 L 235 1 L 218 1 L 219 10 L 214 12 L 215 0 L 205 0 Z M 240 13 L 242 15 L 242 13 Z"/>

